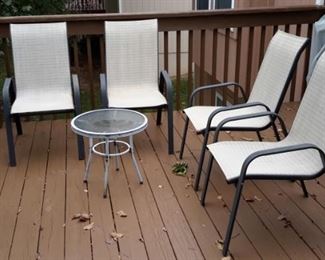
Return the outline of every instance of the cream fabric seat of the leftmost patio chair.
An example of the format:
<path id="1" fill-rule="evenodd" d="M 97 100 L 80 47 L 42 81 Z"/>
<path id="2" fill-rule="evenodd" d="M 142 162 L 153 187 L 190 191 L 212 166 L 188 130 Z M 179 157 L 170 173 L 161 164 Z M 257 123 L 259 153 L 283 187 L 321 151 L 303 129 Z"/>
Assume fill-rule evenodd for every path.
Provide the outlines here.
<path id="1" fill-rule="evenodd" d="M 70 93 L 63 91 L 31 91 L 17 96 L 11 107 L 11 114 L 74 109 Z"/>

